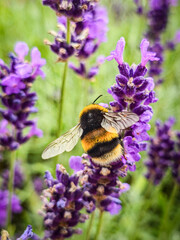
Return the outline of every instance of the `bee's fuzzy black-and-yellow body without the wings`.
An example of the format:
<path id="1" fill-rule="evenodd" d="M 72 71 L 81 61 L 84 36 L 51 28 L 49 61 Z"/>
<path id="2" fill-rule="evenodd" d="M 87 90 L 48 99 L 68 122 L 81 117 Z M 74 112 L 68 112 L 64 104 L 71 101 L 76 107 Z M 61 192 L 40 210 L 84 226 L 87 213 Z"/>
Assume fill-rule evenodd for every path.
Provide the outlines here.
<path id="1" fill-rule="evenodd" d="M 107 132 L 101 127 L 105 112 L 108 112 L 106 108 L 91 104 L 80 113 L 82 147 L 98 164 L 108 164 L 122 155 L 118 133 Z"/>

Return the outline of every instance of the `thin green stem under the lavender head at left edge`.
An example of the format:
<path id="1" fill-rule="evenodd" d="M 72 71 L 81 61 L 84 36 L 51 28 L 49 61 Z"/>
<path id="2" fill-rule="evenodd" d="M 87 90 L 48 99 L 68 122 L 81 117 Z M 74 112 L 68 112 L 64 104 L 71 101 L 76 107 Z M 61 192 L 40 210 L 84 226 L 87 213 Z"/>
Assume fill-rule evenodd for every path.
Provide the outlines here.
<path id="1" fill-rule="evenodd" d="M 9 228 L 12 221 L 12 195 L 14 190 L 14 165 L 16 160 L 16 151 L 12 151 L 10 156 L 10 166 L 9 166 L 9 182 L 8 182 L 8 206 L 7 206 L 7 222 L 6 226 Z"/>

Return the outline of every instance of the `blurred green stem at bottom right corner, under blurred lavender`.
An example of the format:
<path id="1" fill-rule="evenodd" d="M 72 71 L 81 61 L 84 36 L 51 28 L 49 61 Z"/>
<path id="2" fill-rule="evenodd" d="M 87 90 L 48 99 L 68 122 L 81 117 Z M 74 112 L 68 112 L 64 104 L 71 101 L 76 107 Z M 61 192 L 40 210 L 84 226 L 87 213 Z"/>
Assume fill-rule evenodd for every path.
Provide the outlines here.
<path id="1" fill-rule="evenodd" d="M 174 187 L 173 187 L 173 190 L 171 192 L 170 199 L 168 201 L 168 205 L 167 205 L 167 207 L 165 209 L 165 212 L 163 214 L 163 218 L 162 218 L 160 228 L 159 228 L 159 238 L 158 239 L 165 239 L 167 237 L 167 229 L 168 229 L 168 226 L 169 226 L 168 219 L 170 219 L 169 214 L 170 214 L 170 210 L 172 208 L 176 193 L 178 191 L 178 187 L 179 187 L 178 184 L 175 183 Z"/>

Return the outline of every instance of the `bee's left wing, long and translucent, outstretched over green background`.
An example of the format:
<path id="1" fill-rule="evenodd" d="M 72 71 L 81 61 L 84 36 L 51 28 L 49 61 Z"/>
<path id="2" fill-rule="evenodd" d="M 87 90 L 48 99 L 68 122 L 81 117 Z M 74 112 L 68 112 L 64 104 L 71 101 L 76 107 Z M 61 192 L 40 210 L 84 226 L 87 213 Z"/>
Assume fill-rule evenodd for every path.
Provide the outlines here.
<path id="1" fill-rule="evenodd" d="M 71 128 L 68 132 L 63 134 L 61 137 L 50 143 L 47 148 L 42 153 L 43 159 L 48 159 L 54 157 L 64 151 L 70 152 L 74 146 L 77 144 L 79 138 L 82 135 L 82 128 L 80 123 L 75 127 Z"/>

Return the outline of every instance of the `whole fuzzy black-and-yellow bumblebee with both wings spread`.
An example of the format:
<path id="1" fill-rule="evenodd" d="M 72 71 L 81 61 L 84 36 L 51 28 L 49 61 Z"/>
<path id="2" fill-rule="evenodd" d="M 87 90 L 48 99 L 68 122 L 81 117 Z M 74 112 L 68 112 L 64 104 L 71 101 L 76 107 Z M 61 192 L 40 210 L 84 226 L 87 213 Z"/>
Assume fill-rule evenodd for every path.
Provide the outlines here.
<path id="1" fill-rule="evenodd" d="M 92 161 L 101 166 L 108 165 L 123 154 L 119 133 L 138 120 L 139 117 L 130 111 L 113 112 L 98 104 L 90 104 L 80 112 L 79 123 L 50 143 L 42 158 L 71 151 L 81 138 L 82 147 Z"/>

